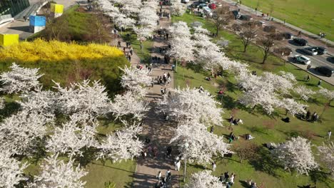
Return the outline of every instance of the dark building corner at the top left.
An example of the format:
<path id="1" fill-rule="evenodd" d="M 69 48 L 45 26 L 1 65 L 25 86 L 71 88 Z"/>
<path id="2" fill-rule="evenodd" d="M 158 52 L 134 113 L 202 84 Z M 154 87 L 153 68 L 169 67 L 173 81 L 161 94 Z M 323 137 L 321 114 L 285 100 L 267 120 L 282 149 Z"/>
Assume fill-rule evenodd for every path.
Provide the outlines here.
<path id="1" fill-rule="evenodd" d="M 11 14 L 16 16 L 29 6 L 29 0 L 0 0 L 0 16 Z"/>

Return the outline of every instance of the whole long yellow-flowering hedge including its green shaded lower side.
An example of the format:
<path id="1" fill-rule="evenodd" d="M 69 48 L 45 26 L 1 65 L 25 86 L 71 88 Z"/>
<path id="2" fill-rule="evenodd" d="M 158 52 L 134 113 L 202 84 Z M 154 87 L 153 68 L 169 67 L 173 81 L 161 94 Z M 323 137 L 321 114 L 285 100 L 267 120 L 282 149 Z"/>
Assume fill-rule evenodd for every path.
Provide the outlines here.
<path id="1" fill-rule="evenodd" d="M 64 43 L 59 41 L 24 41 L 0 48 L 0 73 L 9 71 L 11 63 L 27 68 L 40 68 L 44 88 L 52 88 L 55 80 L 63 85 L 82 79 L 101 80 L 109 93 L 117 93 L 119 78 L 128 66 L 123 52 L 118 48 L 91 43 Z"/>

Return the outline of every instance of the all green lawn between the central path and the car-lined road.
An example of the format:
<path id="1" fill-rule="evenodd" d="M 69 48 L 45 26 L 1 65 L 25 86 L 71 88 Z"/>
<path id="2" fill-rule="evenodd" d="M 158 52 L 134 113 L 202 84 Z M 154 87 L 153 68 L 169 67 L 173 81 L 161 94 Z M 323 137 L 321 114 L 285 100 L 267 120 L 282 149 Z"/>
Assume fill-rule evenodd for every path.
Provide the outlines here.
<path id="1" fill-rule="evenodd" d="M 186 21 L 187 23 L 192 23 L 193 21 L 201 21 L 204 28 L 208 28 L 210 31 L 214 31 L 213 24 L 205 19 L 197 16 L 184 14 L 182 17 L 175 17 L 174 21 Z M 290 63 L 284 65 L 280 58 L 271 56 L 268 59 L 268 63 L 264 65 L 261 64 L 263 54 L 258 46 L 251 45 L 246 53 L 243 53 L 243 46 L 233 33 L 228 33 L 227 31 L 220 31 L 218 38 L 226 38 L 230 41 L 229 47 L 226 50 L 226 55 L 230 58 L 236 59 L 243 63 L 248 63 L 251 70 L 262 73 L 263 71 L 271 71 L 278 73 L 278 71 L 287 71 L 293 73 L 297 80 L 298 85 L 305 85 L 313 90 L 318 90 L 315 87 L 318 83 L 318 78 L 311 76 L 310 83 L 304 82 L 303 77 L 305 76 L 305 71 L 296 68 Z M 323 169 L 324 172 L 311 172 L 310 176 L 299 175 L 297 176 L 295 172 L 292 174 L 285 172 L 285 170 L 276 164 L 275 161 L 270 157 L 270 152 L 265 149 L 262 145 L 266 142 L 285 142 L 289 137 L 300 135 L 303 137 L 308 137 L 312 140 L 313 144 L 319 145 L 321 142 L 325 141 L 325 135 L 328 130 L 334 129 L 334 108 L 331 104 L 330 108 L 325 110 L 322 115 L 323 122 L 305 122 L 299 120 L 298 118 L 290 117 L 291 122 L 285 123 L 280 120 L 281 117 L 285 117 L 285 111 L 282 109 L 276 109 L 275 115 L 268 116 L 263 115 L 260 111 L 243 108 L 238 105 L 238 96 L 241 92 L 236 86 L 236 78 L 234 75 L 228 73 L 224 74 L 223 78 L 213 79 L 211 81 L 205 80 L 206 76 L 210 73 L 203 71 L 201 69 L 195 68 L 194 66 L 188 66 L 187 68 L 178 68 L 178 73 L 175 75 L 175 85 L 181 88 L 189 85 L 191 87 L 203 86 L 211 94 L 216 95 L 220 88 L 226 87 L 228 91 L 223 98 L 217 98 L 221 102 L 221 106 L 224 110 L 223 118 L 227 119 L 230 117 L 231 113 L 235 113 L 235 117 L 241 118 L 244 122 L 243 125 L 233 125 L 233 132 L 235 135 L 244 135 L 246 133 L 251 133 L 255 137 L 254 142 L 256 145 L 260 146 L 258 152 L 258 157 L 254 160 L 244 161 L 239 163 L 238 156 L 234 155 L 231 159 L 221 160 L 217 159 L 217 169 L 213 172 L 215 175 L 221 175 L 223 172 L 235 172 L 237 174 L 236 184 L 233 187 L 246 187 L 245 180 L 253 179 L 258 184 L 263 184 L 264 187 L 297 187 L 310 183 L 316 183 L 317 187 L 333 187 L 334 182 L 328 177 L 328 170 Z M 327 83 L 323 84 L 323 87 L 330 90 L 334 90 L 332 85 Z M 307 103 L 309 105 L 310 111 L 318 112 L 321 114 L 324 109 L 325 100 L 323 98 L 317 97 L 311 100 L 312 103 Z M 303 103 L 302 101 L 300 101 Z M 266 125 L 272 125 L 271 127 Z M 225 127 L 215 127 L 214 133 L 217 135 L 229 135 L 231 129 L 228 129 L 229 123 L 227 120 L 223 123 Z M 333 140 L 333 138 L 332 138 Z M 226 139 L 227 141 L 227 139 Z M 242 145 L 243 139 L 233 142 L 232 144 Z M 313 147 L 313 149 L 315 149 Z M 187 167 L 188 177 L 191 173 L 203 170 L 206 167 L 202 167 L 197 164 L 189 164 Z M 211 169 L 211 165 L 208 164 L 208 169 Z"/>

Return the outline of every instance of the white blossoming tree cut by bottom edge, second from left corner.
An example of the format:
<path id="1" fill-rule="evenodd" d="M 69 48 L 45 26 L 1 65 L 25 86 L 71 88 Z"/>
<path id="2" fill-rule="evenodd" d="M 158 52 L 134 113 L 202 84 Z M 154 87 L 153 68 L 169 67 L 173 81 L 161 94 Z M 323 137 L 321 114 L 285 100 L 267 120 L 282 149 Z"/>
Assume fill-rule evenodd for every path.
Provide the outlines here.
<path id="1" fill-rule="evenodd" d="M 80 168 L 80 165 L 74 167 L 74 160 L 69 162 L 57 160 L 58 154 L 47 157 L 41 164 L 42 172 L 34 177 L 34 182 L 29 184 L 31 188 L 83 188 L 86 182 L 81 180 L 88 172 Z"/>

